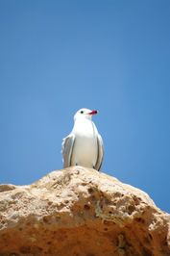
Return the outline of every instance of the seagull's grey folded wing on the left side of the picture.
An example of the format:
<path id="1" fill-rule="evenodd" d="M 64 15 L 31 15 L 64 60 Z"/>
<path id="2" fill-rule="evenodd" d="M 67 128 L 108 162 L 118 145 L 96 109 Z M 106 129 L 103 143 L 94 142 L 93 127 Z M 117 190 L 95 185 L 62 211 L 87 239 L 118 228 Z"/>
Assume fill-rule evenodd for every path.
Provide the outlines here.
<path id="1" fill-rule="evenodd" d="M 71 166 L 71 155 L 73 151 L 74 141 L 75 141 L 74 134 L 70 134 L 69 136 L 67 136 L 62 140 L 61 154 L 62 154 L 62 162 L 63 162 L 64 168 Z"/>

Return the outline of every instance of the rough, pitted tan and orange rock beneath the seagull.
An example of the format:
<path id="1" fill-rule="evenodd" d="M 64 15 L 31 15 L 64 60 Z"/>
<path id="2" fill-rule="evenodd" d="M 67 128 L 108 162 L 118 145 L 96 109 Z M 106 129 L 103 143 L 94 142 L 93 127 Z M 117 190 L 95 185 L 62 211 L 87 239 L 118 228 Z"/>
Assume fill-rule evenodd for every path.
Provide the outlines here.
<path id="1" fill-rule="evenodd" d="M 169 224 L 145 192 L 81 166 L 0 186 L 1 256 L 168 256 Z"/>

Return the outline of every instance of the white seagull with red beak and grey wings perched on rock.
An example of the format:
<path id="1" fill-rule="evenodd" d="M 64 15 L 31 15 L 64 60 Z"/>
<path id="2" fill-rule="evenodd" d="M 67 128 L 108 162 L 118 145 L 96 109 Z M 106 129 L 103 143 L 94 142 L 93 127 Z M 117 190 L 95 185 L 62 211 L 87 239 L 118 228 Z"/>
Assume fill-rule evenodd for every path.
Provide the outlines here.
<path id="1" fill-rule="evenodd" d="M 84 166 L 100 170 L 104 157 L 103 140 L 92 121 L 96 110 L 81 109 L 74 115 L 72 132 L 62 140 L 63 167 Z"/>

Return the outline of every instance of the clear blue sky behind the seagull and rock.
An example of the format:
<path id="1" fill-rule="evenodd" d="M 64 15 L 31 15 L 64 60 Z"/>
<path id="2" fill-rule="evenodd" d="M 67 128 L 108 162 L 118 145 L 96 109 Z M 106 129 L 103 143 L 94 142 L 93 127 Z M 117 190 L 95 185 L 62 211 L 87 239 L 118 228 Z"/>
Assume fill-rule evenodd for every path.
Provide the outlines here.
<path id="1" fill-rule="evenodd" d="M 82 107 L 103 171 L 170 212 L 170 1 L 0 1 L 0 183 L 61 169 Z"/>

